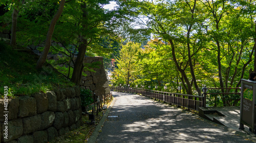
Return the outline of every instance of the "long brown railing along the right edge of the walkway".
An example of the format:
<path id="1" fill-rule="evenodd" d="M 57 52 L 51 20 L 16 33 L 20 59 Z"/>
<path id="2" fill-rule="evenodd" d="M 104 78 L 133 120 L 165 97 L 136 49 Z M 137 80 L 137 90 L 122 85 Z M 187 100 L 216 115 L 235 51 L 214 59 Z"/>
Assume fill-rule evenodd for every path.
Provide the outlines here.
<path id="1" fill-rule="evenodd" d="M 187 107 L 193 110 L 199 110 L 199 107 L 206 107 L 206 104 L 205 104 L 206 95 L 195 96 L 195 95 L 187 95 L 187 94 L 153 91 L 153 90 L 147 90 L 147 89 L 141 89 L 141 88 L 115 87 L 115 86 L 110 86 L 110 89 L 112 91 L 117 91 L 117 92 L 129 92 L 129 93 L 141 94 L 143 96 L 155 98 L 169 104 L 175 104 L 175 105 Z"/>

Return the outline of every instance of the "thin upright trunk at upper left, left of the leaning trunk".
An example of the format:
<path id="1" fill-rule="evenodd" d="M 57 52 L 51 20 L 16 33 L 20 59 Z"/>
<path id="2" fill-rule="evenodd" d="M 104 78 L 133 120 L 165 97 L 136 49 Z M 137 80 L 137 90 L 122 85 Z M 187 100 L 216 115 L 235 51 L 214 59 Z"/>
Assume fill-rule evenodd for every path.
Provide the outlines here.
<path id="1" fill-rule="evenodd" d="M 22 5 L 25 3 L 25 0 L 22 1 Z M 17 28 L 17 18 L 18 18 L 19 10 L 14 8 L 12 13 L 12 29 L 11 29 L 11 42 L 10 44 L 15 46 L 16 45 L 16 28 Z"/>

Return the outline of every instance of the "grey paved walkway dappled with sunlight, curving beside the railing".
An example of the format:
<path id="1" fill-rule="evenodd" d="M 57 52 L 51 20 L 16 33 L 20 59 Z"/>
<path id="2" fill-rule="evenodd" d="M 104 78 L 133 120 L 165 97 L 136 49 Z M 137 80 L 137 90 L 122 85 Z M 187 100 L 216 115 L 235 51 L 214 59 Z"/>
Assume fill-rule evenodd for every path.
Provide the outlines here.
<path id="1" fill-rule="evenodd" d="M 144 96 L 113 96 L 96 142 L 253 142 L 250 135 Z"/>

